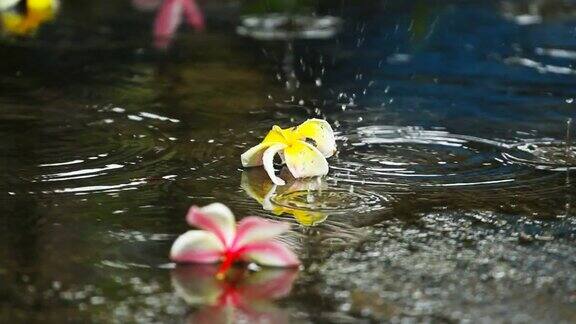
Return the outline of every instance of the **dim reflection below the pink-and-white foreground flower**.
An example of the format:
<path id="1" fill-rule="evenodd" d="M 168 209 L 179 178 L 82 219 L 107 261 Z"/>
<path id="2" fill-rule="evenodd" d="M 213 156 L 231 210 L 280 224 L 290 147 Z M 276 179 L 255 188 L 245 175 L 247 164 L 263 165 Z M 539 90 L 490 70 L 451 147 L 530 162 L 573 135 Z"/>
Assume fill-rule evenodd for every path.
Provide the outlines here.
<path id="1" fill-rule="evenodd" d="M 176 294 L 198 311 L 189 323 L 288 323 L 288 314 L 273 301 L 287 296 L 298 269 L 233 268 L 217 279 L 215 265 L 178 266 L 172 271 Z"/>

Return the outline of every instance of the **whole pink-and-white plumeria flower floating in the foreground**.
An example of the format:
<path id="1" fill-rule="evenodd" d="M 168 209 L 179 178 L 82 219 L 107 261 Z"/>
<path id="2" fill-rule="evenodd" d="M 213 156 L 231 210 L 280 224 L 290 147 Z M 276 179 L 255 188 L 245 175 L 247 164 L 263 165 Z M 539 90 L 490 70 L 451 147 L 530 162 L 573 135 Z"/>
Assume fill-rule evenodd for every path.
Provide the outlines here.
<path id="1" fill-rule="evenodd" d="M 263 266 L 294 267 L 300 262 L 294 253 L 274 238 L 287 231 L 286 223 L 260 217 L 246 217 L 238 226 L 234 215 L 221 203 L 199 208 L 192 206 L 188 224 L 200 228 L 180 235 L 170 251 L 176 263 L 216 263 L 219 275 L 236 262 L 254 262 Z"/>

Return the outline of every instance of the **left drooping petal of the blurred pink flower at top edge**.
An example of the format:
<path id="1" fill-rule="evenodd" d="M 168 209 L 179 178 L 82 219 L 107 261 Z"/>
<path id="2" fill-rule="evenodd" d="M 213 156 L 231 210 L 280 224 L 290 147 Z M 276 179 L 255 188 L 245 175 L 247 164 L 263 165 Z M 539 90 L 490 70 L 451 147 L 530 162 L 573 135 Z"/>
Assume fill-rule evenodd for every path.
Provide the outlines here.
<path id="1" fill-rule="evenodd" d="M 165 0 L 154 21 L 154 39 L 157 47 L 166 48 L 182 22 L 182 0 Z"/>

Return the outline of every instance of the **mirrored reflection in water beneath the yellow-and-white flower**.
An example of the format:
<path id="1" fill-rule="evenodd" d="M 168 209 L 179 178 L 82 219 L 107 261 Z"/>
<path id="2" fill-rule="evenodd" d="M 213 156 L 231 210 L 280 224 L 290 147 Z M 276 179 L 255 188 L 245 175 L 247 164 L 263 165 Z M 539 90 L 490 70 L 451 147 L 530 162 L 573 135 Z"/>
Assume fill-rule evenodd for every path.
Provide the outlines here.
<path id="1" fill-rule="evenodd" d="M 328 215 L 320 211 L 306 208 L 294 208 L 276 204 L 273 198 L 278 194 L 305 192 L 326 189 L 327 184 L 322 178 L 294 179 L 284 168 L 281 176 L 287 179 L 285 186 L 276 186 L 263 169 L 250 169 L 242 172 L 242 189 L 258 201 L 265 210 L 274 215 L 292 215 L 298 223 L 304 226 L 315 226 L 326 220 Z"/>

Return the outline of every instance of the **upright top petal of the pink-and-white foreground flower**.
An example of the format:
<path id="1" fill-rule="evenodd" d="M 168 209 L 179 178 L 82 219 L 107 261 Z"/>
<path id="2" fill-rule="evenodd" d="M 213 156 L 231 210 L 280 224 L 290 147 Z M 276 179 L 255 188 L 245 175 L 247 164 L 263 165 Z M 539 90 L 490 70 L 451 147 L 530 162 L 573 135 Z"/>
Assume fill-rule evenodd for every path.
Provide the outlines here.
<path id="1" fill-rule="evenodd" d="M 186 221 L 192 226 L 214 233 L 225 247 L 230 246 L 236 235 L 234 214 L 221 203 L 213 203 L 202 208 L 192 206 Z"/>

